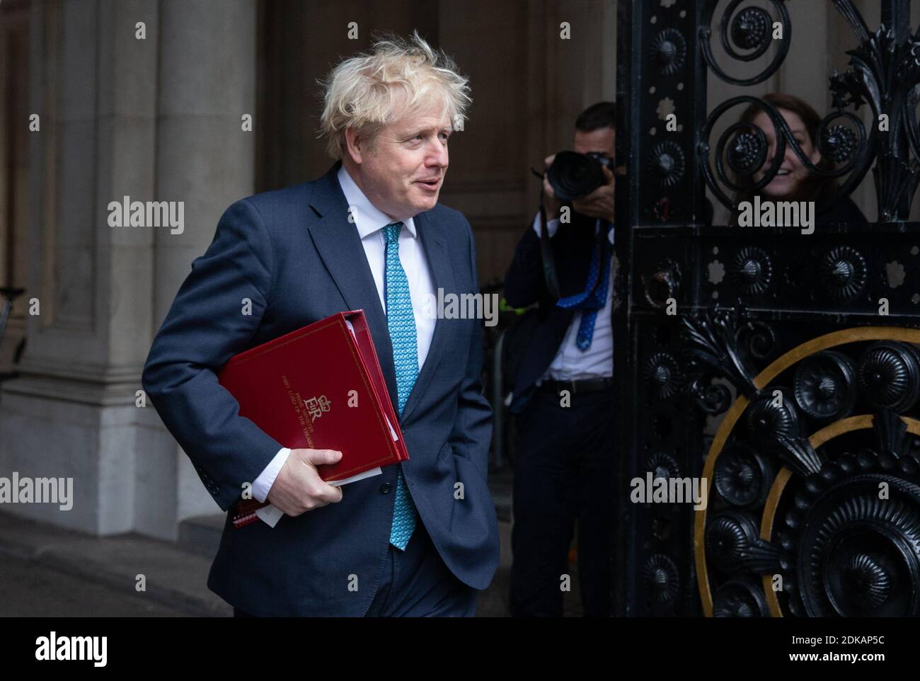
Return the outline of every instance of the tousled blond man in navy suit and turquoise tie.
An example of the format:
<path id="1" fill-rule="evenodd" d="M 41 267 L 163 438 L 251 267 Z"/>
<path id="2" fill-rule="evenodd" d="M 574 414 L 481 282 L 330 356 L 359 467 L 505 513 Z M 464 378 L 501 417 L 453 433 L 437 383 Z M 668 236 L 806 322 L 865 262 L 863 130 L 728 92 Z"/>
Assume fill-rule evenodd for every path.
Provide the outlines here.
<path id="1" fill-rule="evenodd" d="M 228 514 L 208 586 L 236 615 L 472 616 L 498 566 L 481 321 L 421 313 L 437 289 L 478 290 L 470 225 L 438 204 L 467 91 L 417 35 L 339 63 L 322 128 L 341 160 L 230 206 L 156 335 L 144 389 L 214 500 L 231 509 L 249 483 L 285 514 L 239 529 Z M 216 373 L 237 352 L 357 308 L 410 460 L 338 488 L 316 467 L 340 452 L 275 441 L 238 415 Z"/>

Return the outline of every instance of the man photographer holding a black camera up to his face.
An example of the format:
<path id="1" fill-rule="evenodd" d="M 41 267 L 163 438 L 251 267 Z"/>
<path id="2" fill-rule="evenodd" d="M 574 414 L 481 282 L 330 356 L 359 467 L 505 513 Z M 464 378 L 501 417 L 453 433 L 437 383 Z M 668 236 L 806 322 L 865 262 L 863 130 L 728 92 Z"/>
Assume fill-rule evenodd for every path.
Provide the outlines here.
<path id="1" fill-rule="evenodd" d="M 549 243 L 543 248 L 555 262 L 558 292 L 546 283 L 540 214 L 527 226 L 505 276 L 509 305 L 538 303 L 534 326 L 513 358 L 520 362 L 511 403 L 520 433 L 513 489 L 515 617 L 561 616 L 560 583 L 576 521 L 584 614 L 610 614 L 614 139 L 615 104 L 600 102 L 575 122 L 573 148 L 587 156 L 546 158 L 542 201 Z M 554 166 L 558 159 L 565 164 Z M 579 194 L 585 178 L 593 178 L 596 189 Z M 560 188 L 571 196 L 559 196 Z"/>

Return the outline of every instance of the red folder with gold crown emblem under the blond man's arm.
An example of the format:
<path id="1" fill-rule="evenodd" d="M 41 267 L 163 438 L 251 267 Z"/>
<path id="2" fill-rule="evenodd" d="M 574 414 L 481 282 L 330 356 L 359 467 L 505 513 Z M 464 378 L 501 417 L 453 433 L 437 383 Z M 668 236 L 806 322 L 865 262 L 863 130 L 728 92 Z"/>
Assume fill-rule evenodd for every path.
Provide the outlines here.
<path id="1" fill-rule="evenodd" d="M 408 460 L 363 310 L 338 312 L 230 358 L 217 375 L 239 415 L 286 447 L 337 449 L 327 482 Z M 244 500 L 234 525 L 266 503 Z"/>

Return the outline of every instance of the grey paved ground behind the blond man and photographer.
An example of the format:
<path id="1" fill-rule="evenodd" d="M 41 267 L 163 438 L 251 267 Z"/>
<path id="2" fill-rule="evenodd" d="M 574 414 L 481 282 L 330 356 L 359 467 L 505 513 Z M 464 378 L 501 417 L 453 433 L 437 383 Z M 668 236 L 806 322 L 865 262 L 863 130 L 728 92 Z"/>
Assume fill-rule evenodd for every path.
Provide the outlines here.
<path id="1" fill-rule="evenodd" d="M 509 614 L 511 524 L 499 526 L 501 565 L 478 617 Z M 210 565 L 149 537 L 90 537 L 0 514 L 0 617 L 228 617 L 230 606 L 205 585 Z M 140 573 L 143 593 L 135 589 Z M 566 594 L 567 617 L 581 614 L 577 582 Z"/>

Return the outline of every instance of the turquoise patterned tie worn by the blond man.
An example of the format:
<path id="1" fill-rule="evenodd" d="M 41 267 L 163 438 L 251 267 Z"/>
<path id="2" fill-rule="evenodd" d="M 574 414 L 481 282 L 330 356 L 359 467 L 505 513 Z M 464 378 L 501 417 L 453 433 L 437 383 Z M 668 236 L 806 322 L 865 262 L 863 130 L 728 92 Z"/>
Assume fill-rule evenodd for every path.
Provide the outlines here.
<path id="1" fill-rule="evenodd" d="M 397 372 L 397 414 L 406 407 L 406 398 L 419 375 L 419 352 L 416 346 L 415 315 L 408 294 L 406 272 L 399 262 L 399 230 L 402 223 L 390 223 L 383 229 L 386 240 L 386 275 L 384 299 L 386 301 L 386 328 L 393 345 L 393 364 Z M 390 544 L 406 550 L 409 537 L 415 530 L 415 503 L 408 493 L 402 464 L 397 464 L 397 498 L 393 506 L 393 528 Z"/>

